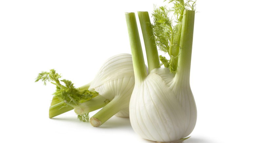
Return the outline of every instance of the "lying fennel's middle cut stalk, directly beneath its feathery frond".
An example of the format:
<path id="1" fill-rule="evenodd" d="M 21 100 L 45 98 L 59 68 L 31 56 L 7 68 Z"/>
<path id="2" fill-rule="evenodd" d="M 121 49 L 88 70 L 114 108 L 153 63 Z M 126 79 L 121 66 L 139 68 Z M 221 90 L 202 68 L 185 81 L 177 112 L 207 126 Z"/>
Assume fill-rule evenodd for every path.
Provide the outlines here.
<path id="1" fill-rule="evenodd" d="M 92 98 L 91 100 L 81 103 L 77 107 L 75 107 L 75 113 L 77 115 L 89 113 L 104 107 L 109 102 L 110 100 L 106 99 L 101 95 L 98 95 L 95 98 Z"/>

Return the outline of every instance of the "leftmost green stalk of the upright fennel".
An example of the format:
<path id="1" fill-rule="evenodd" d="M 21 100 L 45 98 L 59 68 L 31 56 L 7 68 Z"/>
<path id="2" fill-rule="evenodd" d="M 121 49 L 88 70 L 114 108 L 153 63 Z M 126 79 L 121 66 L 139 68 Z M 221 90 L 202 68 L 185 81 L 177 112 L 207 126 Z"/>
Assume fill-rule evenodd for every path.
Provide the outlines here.
<path id="1" fill-rule="evenodd" d="M 130 46 L 132 51 L 133 69 L 135 74 L 135 82 L 143 81 L 147 76 L 144 57 L 142 53 L 141 43 L 139 39 L 139 31 L 137 27 L 135 13 L 125 13 Z"/>

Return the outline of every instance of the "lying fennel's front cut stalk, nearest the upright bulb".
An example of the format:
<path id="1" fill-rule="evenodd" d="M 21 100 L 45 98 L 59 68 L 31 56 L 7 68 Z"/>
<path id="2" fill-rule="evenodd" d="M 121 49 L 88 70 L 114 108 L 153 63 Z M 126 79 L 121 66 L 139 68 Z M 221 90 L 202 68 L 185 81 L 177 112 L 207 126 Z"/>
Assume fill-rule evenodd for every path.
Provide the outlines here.
<path id="1" fill-rule="evenodd" d="M 114 98 L 110 103 L 105 107 L 99 110 L 91 119 L 90 122 L 92 126 L 99 127 L 105 123 L 112 116 L 117 114 L 123 108 L 129 106 L 129 102 L 125 102 L 126 99 L 120 101 L 120 98 Z"/>

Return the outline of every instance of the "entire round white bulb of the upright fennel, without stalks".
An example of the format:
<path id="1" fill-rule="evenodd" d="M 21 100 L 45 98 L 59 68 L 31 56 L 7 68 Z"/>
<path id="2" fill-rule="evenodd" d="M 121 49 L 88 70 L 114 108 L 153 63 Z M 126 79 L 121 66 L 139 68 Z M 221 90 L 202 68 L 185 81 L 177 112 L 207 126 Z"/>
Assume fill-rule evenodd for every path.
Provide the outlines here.
<path id="1" fill-rule="evenodd" d="M 135 85 L 130 119 L 134 131 L 143 138 L 174 142 L 193 131 L 197 119 L 195 100 L 189 80 L 177 75 L 168 68 L 157 68 Z"/>

